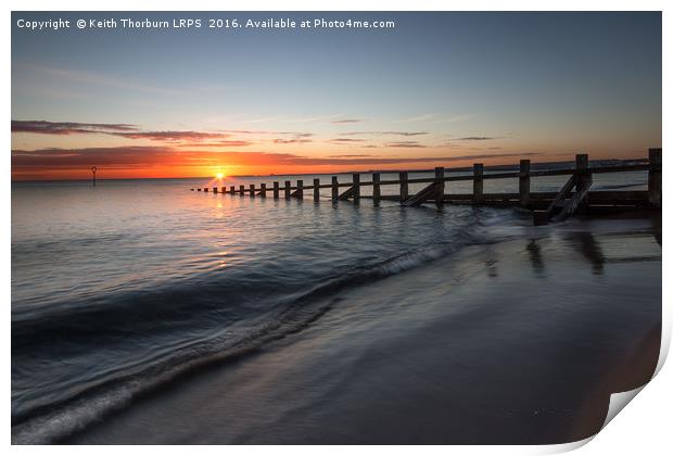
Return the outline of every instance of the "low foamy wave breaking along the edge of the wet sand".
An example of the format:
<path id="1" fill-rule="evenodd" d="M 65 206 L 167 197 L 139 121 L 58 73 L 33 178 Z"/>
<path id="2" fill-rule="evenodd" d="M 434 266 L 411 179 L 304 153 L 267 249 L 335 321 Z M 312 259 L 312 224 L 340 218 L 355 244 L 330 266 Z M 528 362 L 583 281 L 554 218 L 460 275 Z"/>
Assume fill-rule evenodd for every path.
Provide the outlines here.
<path id="1" fill-rule="evenodd" d="M 474 242 L 474 237 L 466 231 L 464 236 L 454 237 L 452 242 L 436 243 L 369 265 L 353 267 L 308 290 L 284 295 L 277 303 L 280 311 L 239 338 L 226 339 L 217 335 L 203 340 L 178 350 L 138 372 L 109 379 L 63 402 L 13 416 L 12 443 L 58 442 L 109 414 L 129 406 L 136 398 L 187 372 L 239 358 L 257 351 L 268 342 L 301 331 L 336 305 L 341 301 L 336 294 L 344 289 L 424 265 Z M 98 320 L 100 315 L 89 317 Z"/>

